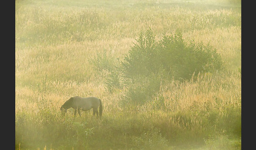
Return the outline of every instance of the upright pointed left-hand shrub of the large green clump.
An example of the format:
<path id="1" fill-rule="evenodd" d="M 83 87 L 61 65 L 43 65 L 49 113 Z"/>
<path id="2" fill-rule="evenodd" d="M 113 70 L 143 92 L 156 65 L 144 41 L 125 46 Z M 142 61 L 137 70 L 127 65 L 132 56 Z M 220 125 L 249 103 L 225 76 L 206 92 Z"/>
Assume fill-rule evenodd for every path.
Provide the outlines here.
<path id="1" fill-rule="evenodd" d="M 150 30 L 146 31 L 145 36 L 140 34 L 136 39 L 137 43 L 131 47 L 129 54 L 125 56 L 122 62 L 123 72 L 126 78 L 131 78 L 140 75 L 149 75 L 152 72 L 159 70 L 159 62 L 157 63 L 156 57 L 156 41 L 155 37 Z"/>

